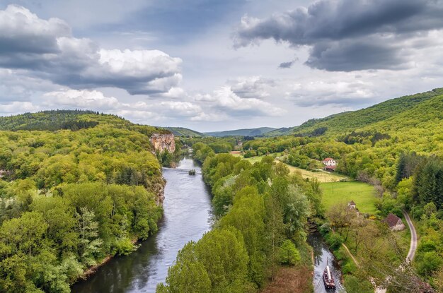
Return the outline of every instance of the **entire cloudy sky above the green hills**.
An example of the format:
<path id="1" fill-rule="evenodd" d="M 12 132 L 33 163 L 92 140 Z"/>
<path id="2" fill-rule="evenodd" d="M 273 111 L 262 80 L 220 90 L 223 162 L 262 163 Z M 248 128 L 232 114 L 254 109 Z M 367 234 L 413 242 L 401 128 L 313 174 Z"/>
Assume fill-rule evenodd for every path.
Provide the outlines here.
<path id="1" fill-rule="evenodd" d="M 222 131 L 443 87 L 443 0 L 0 0 L 0 116 Z"/>

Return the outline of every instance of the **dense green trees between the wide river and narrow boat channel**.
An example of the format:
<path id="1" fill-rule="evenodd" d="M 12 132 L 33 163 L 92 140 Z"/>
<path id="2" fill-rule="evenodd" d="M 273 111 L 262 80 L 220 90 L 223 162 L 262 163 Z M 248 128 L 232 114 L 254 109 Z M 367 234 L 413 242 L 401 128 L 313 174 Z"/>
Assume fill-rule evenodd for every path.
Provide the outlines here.
<path id="1" fill-rule="evenodd" d="M 309 262 L 301 260 L 299 249 L 306 251 L 307 217 L 322 213 L 315 182 L 289 177 L 287 167 L 272 157 L 251 165 L 232 155 L 214 155 L 205 145 L 195 144 L 194 151 L 205 158 L 202 172 L 214 194 L 217 224 L 185 246 L 157 292 L 205 287 L 206 275 L 212 286 L 205 292 L 254 292 L 272 279 L 277 263 Z M 192 280 L 197 271 L 203 280 Z"/>

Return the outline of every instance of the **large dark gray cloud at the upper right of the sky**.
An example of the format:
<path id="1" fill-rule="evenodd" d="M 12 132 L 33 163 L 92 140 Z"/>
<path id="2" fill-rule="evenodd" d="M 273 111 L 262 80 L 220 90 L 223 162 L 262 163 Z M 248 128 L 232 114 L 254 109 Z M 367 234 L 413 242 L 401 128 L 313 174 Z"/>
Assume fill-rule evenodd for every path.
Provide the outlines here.
<path id="1" fill-rule="evenodd" d="M 408 59 L 398 44 L 443 28 L 442 15 L 441 0 L 320 0 L 268 18 L 244 16 L 234 47 L 273 39 L 293 47 L 312 46 L 306 61 L 312 68 L 398 69 Z"/>

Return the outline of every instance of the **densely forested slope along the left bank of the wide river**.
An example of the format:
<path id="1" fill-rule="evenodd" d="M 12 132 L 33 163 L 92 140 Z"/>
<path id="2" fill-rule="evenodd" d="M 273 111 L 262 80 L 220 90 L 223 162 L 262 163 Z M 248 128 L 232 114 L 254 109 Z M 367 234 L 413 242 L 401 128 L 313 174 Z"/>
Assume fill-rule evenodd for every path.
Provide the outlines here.
<path id="1" fill-rule="evenodd" d="M 78 121 L 95 124 L 62 127 Z M 0 131 L 0 292 L 69 292 L 84 270 L 156 232 L 164 181 L 149 136 L 162 130 L 71 111 L 0 125 L 16 130 Z"/>

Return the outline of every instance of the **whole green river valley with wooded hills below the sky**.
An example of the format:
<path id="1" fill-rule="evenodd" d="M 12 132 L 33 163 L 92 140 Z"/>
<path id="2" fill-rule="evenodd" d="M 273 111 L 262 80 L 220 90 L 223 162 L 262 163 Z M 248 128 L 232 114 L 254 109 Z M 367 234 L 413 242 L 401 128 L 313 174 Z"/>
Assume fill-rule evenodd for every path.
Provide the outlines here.
<path id="1" fill-rule="evenodd" d="M 355 121 L 356 128 L 344 126 L 355 116 L 346 112 L 272 137 L 200 136 L 184 128 L 174 136 L 118 116 L 69 110 L 1 117 L 0 272 L 7 282 L 0 286 L 21 286 L 5 266 L 21 260 L 44 263 L 46 270 L 26 265 L 22 275 L 26 286 L 43 292 L 55 292 L 54 286 L 61 292 L 110 290 L 107 286 L 185 292 L 184 280 L 197 275 L 192 285 L 197 292 L 284 292 L 282 277 L 309 275 L 330 258 L 346 292 L 355 292 L 357 284 L 372 292 L 371 282 L 392 292 L 428 283 L 438 287 L 443 264 L 437 252 L 443 243 L 439 93 L 359 110 L 359 116 L 374 116 L 374 109 L 381 114 Z M 388 112 L 395 114 L 383 114 Z M 198 164 L 192 168 L 192 160 L 181 159 L 190 150 Z M 325 158 L 333 160 L 333 172 L 324 170 Z M 177 162 L 177 169 L 161 169 Z M 195 181 L 189 191 L 183 189 L 187 181 Z M 197 206 L 204 216 L 180 220 L 197 215 Z M 391 232 L 384 218 L 403 218 L 403 210 L 413 217 L 419 242 L 413 267 L 396 278 L 423 281 L 386 283 L 397 280 L 386 278 L 394 274 L 389 263 L 403 263 L 410 232 Z M 183 237 L 170 231 L 179 227 L 170 221 L 187 223 L 180 228 Z M 21 234 L 16 227 L 34 232 Z M 319 234 L 312 238 L 313 233 Z M 31 242 L 22 244 L 24 235 Z M 326 249 L 322 253 L 328 256 L 314 253 L 323 261 L 312 263 L 311 246 L 323 241 L 316 253 Z M 77 282 L 90 268 L 96 274 Z M 127 273 L 112 277 L 118 283 L 108 280 L 122 268 Z M 58 274 L 52 280 L 63 282 L 42 282 L 48 269 Z M 291 286 L 320 292 L 317 283 L 318 276 L 304 277 Z"/>

